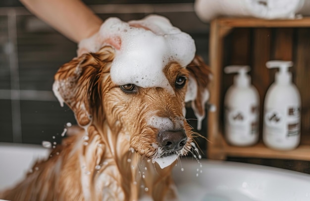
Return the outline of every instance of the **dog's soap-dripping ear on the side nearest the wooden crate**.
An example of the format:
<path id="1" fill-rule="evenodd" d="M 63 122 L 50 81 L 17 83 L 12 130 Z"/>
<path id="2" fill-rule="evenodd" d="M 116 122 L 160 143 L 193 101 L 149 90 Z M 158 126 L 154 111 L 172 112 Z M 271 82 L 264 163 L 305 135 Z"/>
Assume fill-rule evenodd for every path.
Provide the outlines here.
<path id="1" fill-rule="evenodd" d="M 199 56 L 195 56 L 186 68 L 190 74 L 185 102 L 192 101 L 192 108 L 198 119 L 197 129 L 201 130 L 201 122 L 206 116 L 205 105 L 209 99 L 208 84 L 212 74 L 209 67 Z"/>

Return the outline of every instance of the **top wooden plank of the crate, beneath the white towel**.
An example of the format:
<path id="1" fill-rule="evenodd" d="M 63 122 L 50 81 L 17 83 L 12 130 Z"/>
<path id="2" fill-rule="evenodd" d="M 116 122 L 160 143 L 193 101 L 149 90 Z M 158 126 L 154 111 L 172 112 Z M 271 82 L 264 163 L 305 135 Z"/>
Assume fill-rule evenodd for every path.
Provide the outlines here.
<path id="1" fill-rule="evenodd" d="M 218 18 L 223 27 L 310 27 L 310 17 L 301 19 L 266 20 L 257 18 Z"/>

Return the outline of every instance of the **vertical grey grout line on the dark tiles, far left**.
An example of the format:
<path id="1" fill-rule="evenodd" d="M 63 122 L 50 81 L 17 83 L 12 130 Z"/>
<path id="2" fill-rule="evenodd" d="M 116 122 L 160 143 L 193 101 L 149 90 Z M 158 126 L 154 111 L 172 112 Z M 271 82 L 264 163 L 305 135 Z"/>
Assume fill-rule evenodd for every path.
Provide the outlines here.
<path id="1" fill-rule="evenodd" d="M 19 71 L 17 57 L 17 25 L 14 9 L 7 12 L 8 43 L 9 43 L 9 67 L 11 79 L 11 110 L 12 110 L 12 134 L 13 142 L 22 142 L 21 113 L 20 113 L 20 91 Z"/>

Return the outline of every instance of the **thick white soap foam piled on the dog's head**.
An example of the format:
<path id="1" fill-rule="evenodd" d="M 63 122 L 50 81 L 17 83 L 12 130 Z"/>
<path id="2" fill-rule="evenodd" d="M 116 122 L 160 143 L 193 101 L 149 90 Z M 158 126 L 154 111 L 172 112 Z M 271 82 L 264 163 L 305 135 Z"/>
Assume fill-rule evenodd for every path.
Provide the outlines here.
<path id="1" fill-rule="evenodd" d="M 111 79 L 118 85 L 135 84 L 172 91 L 163 68 L 170 62 L 186 67 L 196 52 L 190 35 L 158 15 L 128 23 L 108 18 L 100 29 L 100 35 L 103 41 L 120 40 L 120 49 L 116 48 L 110 69 Z"/>

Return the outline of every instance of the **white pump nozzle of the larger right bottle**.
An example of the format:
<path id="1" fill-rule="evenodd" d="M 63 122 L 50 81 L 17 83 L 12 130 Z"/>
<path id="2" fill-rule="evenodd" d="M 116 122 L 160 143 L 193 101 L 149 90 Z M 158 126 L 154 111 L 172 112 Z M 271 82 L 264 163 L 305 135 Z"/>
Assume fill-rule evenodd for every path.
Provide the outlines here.
<path id="1" fill-rule="evenodd" d="M 279 68 L 279 71 L 275 74 L 275 81 L 281 84 L 286 84 L 291 81 L 292 74 L 288 70 L 289 67 L 293 66 L 293 62 L 291 61 L 279 61 L 273 60 L 266 62 L 267 68 Z"/>

